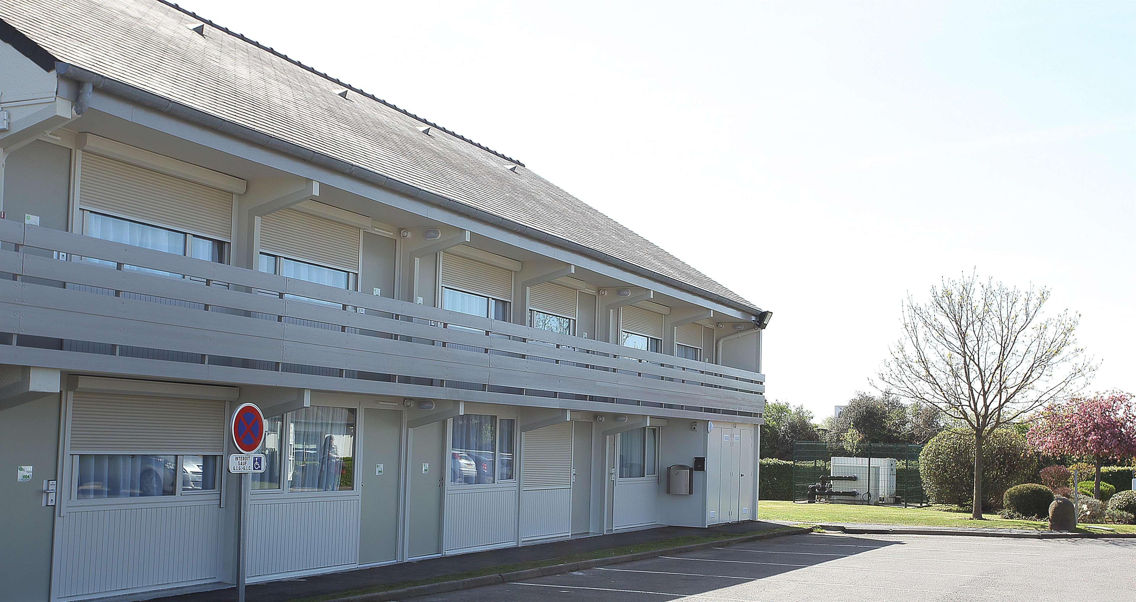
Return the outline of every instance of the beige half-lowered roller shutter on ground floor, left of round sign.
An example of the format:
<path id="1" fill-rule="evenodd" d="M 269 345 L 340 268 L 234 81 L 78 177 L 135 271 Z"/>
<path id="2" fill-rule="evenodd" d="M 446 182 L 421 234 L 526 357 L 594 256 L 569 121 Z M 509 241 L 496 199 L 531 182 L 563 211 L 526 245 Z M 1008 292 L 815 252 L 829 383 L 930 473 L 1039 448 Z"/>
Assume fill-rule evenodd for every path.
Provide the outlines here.
<path id="1" fill-rule="evenodd" d="M 75 393 L 72 453 L 225 453 L 225 402 Z"/>

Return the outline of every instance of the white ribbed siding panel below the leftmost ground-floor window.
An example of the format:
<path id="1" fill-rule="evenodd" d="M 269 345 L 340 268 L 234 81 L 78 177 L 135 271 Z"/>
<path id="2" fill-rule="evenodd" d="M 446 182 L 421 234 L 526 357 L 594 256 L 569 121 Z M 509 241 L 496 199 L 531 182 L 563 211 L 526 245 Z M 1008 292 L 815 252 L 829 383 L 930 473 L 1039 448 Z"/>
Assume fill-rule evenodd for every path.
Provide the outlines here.
<path id="1" fill-rule="evenodd" d="M 60 519 L 56 597 L 109 595 L 218 578 L 218 502 L 111 510 L 76 507 Z"/>

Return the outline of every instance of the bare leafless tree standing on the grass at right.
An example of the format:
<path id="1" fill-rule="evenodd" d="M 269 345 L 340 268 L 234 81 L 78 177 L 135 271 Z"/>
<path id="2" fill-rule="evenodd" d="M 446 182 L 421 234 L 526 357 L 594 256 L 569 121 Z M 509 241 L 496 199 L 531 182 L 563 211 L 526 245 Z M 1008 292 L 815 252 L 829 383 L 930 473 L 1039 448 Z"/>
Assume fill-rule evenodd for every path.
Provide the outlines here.
<path id="1" fill-rule="evenodd" d="M 985 436 L 1081 391 L 1096 369 L 1077 346 L 1080 316 L 1044 316 L 1049 298 L 1045 289 L 1020 291 L 974 274 L 944 278 L 926 304 L 908 295 L 903 337 L 879 371 L 894 393 L 974 433 L 975 519 L 983 518 Z"/>

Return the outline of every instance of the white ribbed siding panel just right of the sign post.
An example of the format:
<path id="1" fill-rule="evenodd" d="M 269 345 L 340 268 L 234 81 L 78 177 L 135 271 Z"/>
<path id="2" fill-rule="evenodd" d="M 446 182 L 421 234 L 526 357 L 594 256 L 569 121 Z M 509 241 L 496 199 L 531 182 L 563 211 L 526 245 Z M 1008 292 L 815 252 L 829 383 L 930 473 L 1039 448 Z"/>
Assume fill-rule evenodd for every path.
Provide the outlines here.
<path id="1" fill-rule="evenodd" d="M 250 577 L 359 562 L 358 498 L 253 501 Z"/>

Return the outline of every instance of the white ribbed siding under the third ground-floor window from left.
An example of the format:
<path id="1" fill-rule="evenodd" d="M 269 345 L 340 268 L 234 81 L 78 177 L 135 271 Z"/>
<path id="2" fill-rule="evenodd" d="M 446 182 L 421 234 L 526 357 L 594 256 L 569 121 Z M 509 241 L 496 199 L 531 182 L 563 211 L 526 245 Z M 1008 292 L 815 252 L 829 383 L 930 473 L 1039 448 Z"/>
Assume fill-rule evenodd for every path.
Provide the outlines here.
<path id="1" fill-rule="evenodd" d="M 445 496 L 445 552 L 517 543 L 517 488 L 451 491 Z"/>

